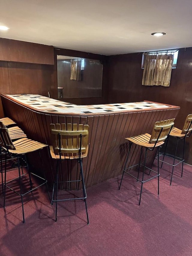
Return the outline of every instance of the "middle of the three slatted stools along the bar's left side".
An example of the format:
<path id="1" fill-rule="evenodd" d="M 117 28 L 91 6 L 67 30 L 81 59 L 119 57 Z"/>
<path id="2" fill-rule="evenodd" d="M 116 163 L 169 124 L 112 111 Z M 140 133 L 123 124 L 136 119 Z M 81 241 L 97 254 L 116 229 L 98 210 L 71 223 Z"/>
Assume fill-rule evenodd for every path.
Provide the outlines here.
<path id="1" fill-rule="evenodd" d="M 10 123 L 10 122 L 9 122 Z M 13 124 L 13 123 L 12 123 Z M 6 128 L 4 123 L 0 121 L 0 127 L 1 128 Z M 10 139 L 12 141 L 14 140 L 18 140 L 18 139 L 22 139 L 22 138 L 26 138 L 27 135 L 18 127 L 18 126 L 13 126 L 13 127 L 10 127 L 10 128 L 7 128 L 8 129 L 8 133 L 9 133 L 9 136 L 10 136 Z M 3 149 L 4 150 L 4 149 Z M 4 194 L 4 188 L 3 188 L 3 173 L 4 173 L 4 170 L 3 170 L 3 162 L 5 160 L 2 159 L 2 155 L 4 155 L 5 152 L 2 152 L 2 148 L 0 147 L 0 160 L 1 160 L 1 184 L 2 184 L 2 194 Z M 13 159 L 13 158 L 11 158 Z M 12 168 L 10 170 L 13 170 Z"/>

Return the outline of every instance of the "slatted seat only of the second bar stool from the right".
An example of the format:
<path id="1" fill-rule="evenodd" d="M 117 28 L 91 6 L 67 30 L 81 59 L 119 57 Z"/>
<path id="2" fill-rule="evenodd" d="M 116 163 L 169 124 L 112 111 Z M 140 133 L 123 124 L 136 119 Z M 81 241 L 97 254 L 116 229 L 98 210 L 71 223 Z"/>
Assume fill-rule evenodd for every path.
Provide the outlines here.
<path id="1" fill-rule="evenodd" d="M 151 134 L 145 133 L 145 134 L 141 134 L 141 135 L 137 135 L 134 137 L 125 138 L 125 139 L 131 141 L 132 143 L 135 143 L 139 146 L 146 147 L 146 148 L 159 147 L 164 144 L 164 142 L 158 142 L 156 144 L 149 143 L 150 138 L 151 138 Z"/>

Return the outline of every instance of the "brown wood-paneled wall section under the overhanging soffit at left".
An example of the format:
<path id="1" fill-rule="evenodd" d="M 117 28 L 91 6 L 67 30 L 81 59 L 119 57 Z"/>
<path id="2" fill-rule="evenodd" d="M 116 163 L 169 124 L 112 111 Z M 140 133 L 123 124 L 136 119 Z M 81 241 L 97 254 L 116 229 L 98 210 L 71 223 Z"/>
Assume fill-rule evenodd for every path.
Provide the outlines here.
<path id="1" fill-rule="evenodd" d="M 48 96 L 53 83 L 53 65 L 0 61 L 0 93 Z M 3 117 L 0 106 L 0 117 Z"/>

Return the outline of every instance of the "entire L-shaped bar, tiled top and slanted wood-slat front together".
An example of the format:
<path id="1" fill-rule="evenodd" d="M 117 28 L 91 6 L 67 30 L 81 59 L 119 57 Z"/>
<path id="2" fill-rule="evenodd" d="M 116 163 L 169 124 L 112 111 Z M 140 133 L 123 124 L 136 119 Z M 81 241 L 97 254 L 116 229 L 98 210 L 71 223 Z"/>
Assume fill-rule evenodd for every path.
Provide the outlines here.
<path id="1" fill-rule="evenodd" d="M 48 145 L 51 123 L 89 125 L 89 151 L 83 159 L 87 187 L 122 173 L 128 149 L 125 137 L 151 133 L 156 121 L 176 118 L 180 110 L 177 106 L 150 101 L 79 106 L 41 95 L 1 95 L 1 100 L 5 116 L 13 119 L 30 139 Z M 133 147 L 130 165 L 138 161 L 139 153 L 140 148 Z M 148 164 L 151 164 L 153 154 L 148 155 Z M 49 158 L 48 148 L 44 148 L 41 155 L 47 178 L 52 182 L 55 162 Z M 41 171 L 40 158 L 35 153 L 29 155 L 29 164 Z M 75 180 L 78 176 L 76 161 L 64 161 L 60 180 Z M 77 189 L 77 184 L 70 184 L 68 189 Z"/>

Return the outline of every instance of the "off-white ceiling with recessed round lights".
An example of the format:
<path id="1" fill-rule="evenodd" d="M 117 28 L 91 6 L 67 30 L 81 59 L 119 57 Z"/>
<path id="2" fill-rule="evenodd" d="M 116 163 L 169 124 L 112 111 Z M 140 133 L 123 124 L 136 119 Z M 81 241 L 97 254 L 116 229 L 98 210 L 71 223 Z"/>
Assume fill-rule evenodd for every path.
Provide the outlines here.
<path id="1" fill-rule="evenodd" d="M 191 47 L 191 12 L 191 0 L 6 0 L 0 37 L 104 55 Z"/>

